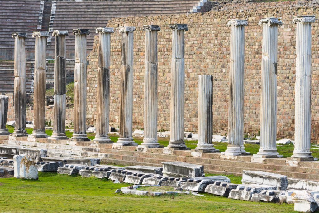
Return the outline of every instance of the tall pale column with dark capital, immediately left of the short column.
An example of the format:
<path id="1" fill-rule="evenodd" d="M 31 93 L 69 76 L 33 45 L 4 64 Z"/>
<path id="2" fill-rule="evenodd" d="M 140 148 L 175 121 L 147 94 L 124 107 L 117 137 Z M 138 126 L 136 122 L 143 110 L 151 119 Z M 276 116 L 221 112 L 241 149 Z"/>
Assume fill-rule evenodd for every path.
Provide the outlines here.
<path id="1" fill-rule="evenodd" d="M 186 24 L 170 24 L 172 32 L 170 141 L 165 149 L 189 149 L 184 141 L 184 90 Z"/>

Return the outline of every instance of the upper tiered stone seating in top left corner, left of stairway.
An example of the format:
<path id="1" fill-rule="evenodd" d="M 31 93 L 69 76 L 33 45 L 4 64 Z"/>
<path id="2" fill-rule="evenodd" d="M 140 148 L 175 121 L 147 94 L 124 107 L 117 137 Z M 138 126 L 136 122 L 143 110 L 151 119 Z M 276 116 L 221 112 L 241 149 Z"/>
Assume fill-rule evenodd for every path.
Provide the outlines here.
<path id="1" fill-rule="evenodd" d="M 32 32 L 36 31 L 39 0 L 0 0 L 0 59 L 13 59 L 13 32 L 28 33 L 26 52 L 34 51 Z"/>

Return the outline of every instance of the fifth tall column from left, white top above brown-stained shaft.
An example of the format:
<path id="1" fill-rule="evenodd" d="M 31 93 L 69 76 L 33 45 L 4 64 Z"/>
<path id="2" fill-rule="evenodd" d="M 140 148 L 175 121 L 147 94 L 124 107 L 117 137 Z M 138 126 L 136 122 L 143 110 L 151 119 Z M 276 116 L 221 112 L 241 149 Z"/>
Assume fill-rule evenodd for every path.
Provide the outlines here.
<path id="1" fill-rule="evenodd" d="M 97 72 L 97 115 L 94 141 L 113 143 L 108 136 L 110 115 L 110 45 L 112 27 L 97 27 L 99 33 L 99 61 Z"/>

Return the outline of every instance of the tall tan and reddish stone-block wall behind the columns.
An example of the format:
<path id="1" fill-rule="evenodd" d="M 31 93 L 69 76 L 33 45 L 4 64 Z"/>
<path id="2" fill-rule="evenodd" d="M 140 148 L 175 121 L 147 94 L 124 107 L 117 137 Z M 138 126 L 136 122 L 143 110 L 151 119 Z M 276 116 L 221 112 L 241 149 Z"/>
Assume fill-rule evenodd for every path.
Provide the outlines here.
<path id="1" fill-rule="evenodd" d="M 245 133 L 260 129 L 260 82 L 262 27 L 258 21 L 264 17 L 282 17 L 284 25 L 278 30 L 278 138 L 294 135 L 295 84 L 295 24 L 292 16 L 318 14 L 318 4 L 304 1 L 226 4 L 219 11 L 180 15 L 127 17 L 111 19 L 108 27 L 115 27 L 111 36 L 111 103 L 110 125 L 119 126 L 121 35 L 119 26 L 135 26 L 134 32 L 134 109 L 133 128 L 143 128 L 144 42 L 143 25 L 161 26 L 158 33 L 158 129 L 169 130 L 170 116 L 170 61 L 172 30 L 168 24 L 189 25 L 185 33 L 185 131 L 197 132 L 198 75 L 212 74 L 214 133 L 227 133 L 228 74 L 230 29 L 228 19 L 248 19 L 245 27 Z M 319 136 L 319 29 L 318 21 L 312 25 L 312 141 Z M 87 83 L 87 121 L 96 119 L 96 72 L 98 37 L 89 57 Z"/>

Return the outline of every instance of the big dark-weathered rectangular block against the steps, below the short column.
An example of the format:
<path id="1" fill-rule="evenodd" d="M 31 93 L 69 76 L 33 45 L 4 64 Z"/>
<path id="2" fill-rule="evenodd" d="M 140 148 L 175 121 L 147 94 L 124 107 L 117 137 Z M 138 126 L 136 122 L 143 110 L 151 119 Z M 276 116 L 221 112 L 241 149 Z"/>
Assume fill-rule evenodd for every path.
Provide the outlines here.
<path id="1" fill-rule="evenodd" d="M 204 166 L 189 164 L 185 162 L 162 162 L 163 164 L 163 175 L 168 177 L 185 177 L 185 178 L 196 178 L 204 177 Z"/>

